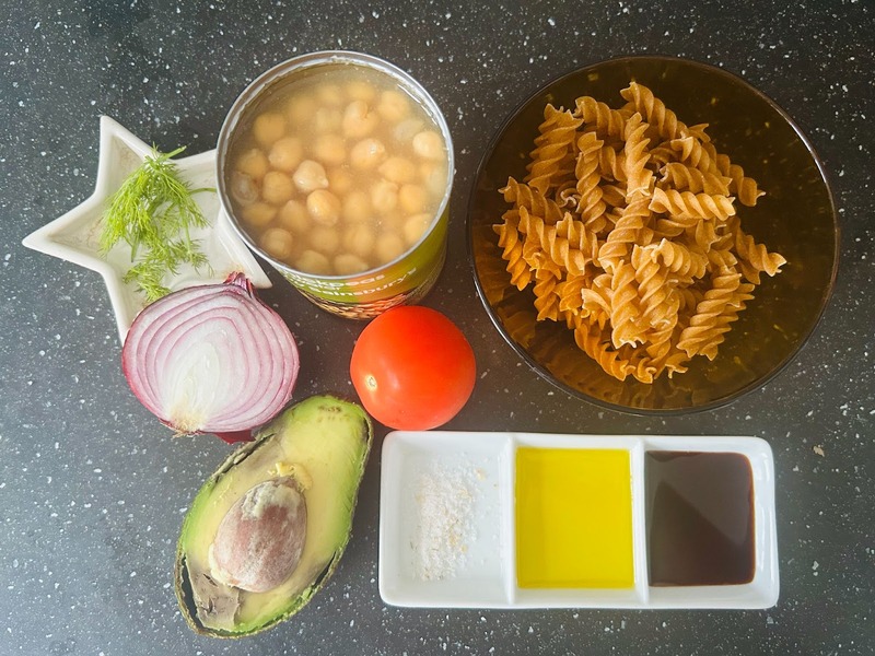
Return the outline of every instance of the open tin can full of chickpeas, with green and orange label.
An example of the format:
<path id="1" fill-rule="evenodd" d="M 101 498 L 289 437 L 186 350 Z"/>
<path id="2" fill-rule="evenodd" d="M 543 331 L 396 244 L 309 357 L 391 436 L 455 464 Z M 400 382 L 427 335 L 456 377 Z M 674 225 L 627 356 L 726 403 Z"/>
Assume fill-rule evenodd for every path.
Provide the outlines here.
<path id="1" fill-rule="evenodd" d="M 376 57 L 313 52 L 261 74 L 225 118 L 217 168 L 234 230 L 329 312 L 416 303 L 443 268 L 450 130 L 428 92 Z"/>

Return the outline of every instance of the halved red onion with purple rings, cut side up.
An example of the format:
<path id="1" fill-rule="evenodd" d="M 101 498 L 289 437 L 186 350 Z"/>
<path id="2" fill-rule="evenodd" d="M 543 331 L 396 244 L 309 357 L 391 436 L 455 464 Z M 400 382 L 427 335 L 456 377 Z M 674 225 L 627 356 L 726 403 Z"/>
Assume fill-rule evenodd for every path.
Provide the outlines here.
<path id="1" fill-rule="evenodd" d="M 282 318 L 243 273 L 232 273 L 148 305 L 125 339 L 121 367 L 164 424 L 232 441 L 282 410 L 300 362 Z"/>

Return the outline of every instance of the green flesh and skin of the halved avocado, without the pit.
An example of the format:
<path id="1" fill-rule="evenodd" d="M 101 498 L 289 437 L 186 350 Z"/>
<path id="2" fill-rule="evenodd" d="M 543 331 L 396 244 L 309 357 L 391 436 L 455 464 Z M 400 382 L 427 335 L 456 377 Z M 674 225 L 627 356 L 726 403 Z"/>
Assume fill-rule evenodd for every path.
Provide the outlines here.
<path id="1" fill-rule="evenodd" d="M 292 406 L 235 450 L 198 492 L 176 549 L 176 598 L 191 629 L 241 637 L 289 619 L 325 585 L 349 542 L 373 441 L 368 414 L 330 396 Z M 256 485 L 291 477 L 306 503 L 303 552 L 289 577 L 261 593 L 220 581 L 210 564 L 219 526 Z"/>

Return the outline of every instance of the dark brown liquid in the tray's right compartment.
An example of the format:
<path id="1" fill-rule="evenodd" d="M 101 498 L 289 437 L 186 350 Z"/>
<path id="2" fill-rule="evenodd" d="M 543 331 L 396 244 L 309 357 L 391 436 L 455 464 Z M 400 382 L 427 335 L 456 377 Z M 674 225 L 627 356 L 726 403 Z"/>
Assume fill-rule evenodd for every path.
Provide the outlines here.
<path id="1" fill-rule="evenodd" d="M 648 452 L 648 566 L 653 586 L 754 578 L 754 480 L 740 454 Z"/>

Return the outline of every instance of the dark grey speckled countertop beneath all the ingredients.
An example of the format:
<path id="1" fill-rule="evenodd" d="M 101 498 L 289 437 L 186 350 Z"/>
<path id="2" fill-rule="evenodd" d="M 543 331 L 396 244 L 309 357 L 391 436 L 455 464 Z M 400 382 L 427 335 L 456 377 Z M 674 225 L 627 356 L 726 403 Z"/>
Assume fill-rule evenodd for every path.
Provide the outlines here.
<path id="1" fill-rule="evenodd" d="M 862 0 L 10 3 L 0 17 L 0 654 L 875 653 L 874 27 Z M 91 194 L 101 115 L 163 150 L 206 151 L 248 81 L 330 48 L 410 71 L 455 140 L 450 261 L 428 304 L 463 327 L 481 378 L 448 427 L 767 438 L 778 481 L 777 607 L 387 607 L 376 584 L 376 448 L 341 567 L 306 609 L 238 642 L 187 629 L 173 593 L 174 547 L 228 447 L 171 438 L 125 384 L 98 276 L 21 239 Z M 602 410 L 530 374 L 476 296 L 463 230 L 476 166 L 512 107 L 562 72 L 642 52 L 723 67 L 777 101 L 821 155 L 842 223 L 835 295 L 795 361 L 732 406 L 665 420 Z M 295 397 L 351 394 L 347 363 L 361 325 L 273 280 L 265 296 L 302 350 Z"/>

